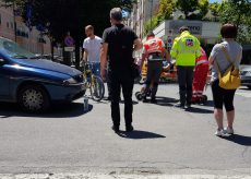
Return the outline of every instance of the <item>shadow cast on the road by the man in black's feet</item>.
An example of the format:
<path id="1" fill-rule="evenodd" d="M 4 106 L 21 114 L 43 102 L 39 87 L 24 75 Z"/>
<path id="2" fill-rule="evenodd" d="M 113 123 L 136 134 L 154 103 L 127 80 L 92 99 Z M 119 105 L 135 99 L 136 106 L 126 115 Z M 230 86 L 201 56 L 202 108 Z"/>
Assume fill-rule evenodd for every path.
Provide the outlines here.
<path id="1" fill-rule="evenodd" d="M 132 132 L 123 132 L 121 131 L 118 133 L 119 136 L 132 140 L 144 140 L 144 139 L 158 139 L 158 138 L 166 138 L 164 135 L 146 132 L 146 131 L 132 131 Z"/>

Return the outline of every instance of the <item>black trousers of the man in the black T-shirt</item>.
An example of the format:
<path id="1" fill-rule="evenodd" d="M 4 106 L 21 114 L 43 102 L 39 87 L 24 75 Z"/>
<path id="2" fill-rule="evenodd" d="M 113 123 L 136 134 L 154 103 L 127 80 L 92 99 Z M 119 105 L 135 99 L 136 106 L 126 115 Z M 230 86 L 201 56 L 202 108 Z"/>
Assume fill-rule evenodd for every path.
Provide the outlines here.
<path id="1" fill-rule="evenodd" d="M 125 126 L 130 126 L 132 123 L 132 112 L 133 112 L 133 104 L 132 104 L 132 91 L 134 85 L 133 77 L 130 77 L 131 74 L 124 73 L 123 76 L 116 75 L 112 73 L 108 73 L 109 85 L 110 85 L 110 97 L 111 97 L 111 118 L 113 121 L 113 126 L 120 126 L 120 91 L 122 90 L 123 99 L 124 99 L 124 120 Z"/>

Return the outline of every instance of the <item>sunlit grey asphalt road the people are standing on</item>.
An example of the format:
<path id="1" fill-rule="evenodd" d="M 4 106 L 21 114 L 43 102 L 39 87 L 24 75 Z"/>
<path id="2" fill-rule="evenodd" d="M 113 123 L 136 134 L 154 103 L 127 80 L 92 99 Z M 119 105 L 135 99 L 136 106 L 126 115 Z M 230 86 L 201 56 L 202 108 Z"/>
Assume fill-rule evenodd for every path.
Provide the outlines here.
<path id="1" fill-rule="evenodd" d="M 110 130 L 107 102 L 91 100 L 84 114 L 80 99 L 44 115 L 0 104 L 0 174 L 251 175 L 251 91 L 237 93 L 237 134 L 226 139 L 214 136 L 211 88 L 206 106 L 183 111 L 172 107 L 178 86 L 162 85 L 157 105 L 135 100 L 135 131 L 121 135 Z"/>

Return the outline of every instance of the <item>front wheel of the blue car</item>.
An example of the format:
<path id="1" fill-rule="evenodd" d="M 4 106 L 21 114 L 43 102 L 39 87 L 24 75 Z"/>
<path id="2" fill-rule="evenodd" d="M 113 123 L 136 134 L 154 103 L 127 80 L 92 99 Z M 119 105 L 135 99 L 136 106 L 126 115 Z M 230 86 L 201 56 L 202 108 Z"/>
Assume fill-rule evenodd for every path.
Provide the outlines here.
<path id="1" fill-rule="evenodd" d="M 28 88 L 22 96 L 23 105 L 28 110 L 39 110 L 43 108 L 43 93 L 33 88 Z"/>

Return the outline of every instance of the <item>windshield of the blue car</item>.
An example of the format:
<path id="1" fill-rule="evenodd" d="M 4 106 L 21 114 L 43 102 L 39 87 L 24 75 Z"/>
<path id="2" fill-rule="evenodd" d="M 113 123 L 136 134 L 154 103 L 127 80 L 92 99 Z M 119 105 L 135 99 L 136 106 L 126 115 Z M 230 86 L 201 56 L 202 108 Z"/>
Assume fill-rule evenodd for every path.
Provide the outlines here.
<path id="1" fill-rule="evenodd" d="M 16 43 L 3 38 L 0 38 L 0 50 L 15 59 L 33 59 L 35 57 L 34 53 L 20 47 Z"/>

